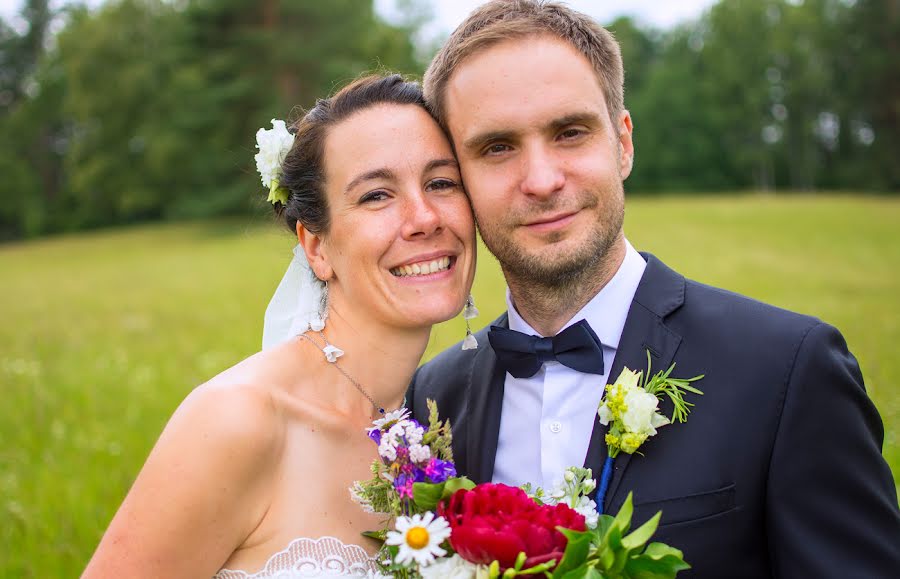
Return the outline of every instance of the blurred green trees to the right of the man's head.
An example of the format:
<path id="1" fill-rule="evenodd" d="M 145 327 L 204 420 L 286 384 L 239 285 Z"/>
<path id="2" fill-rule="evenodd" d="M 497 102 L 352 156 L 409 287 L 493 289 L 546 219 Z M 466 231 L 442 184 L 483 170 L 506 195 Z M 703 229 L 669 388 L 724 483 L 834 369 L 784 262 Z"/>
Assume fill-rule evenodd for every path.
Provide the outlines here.
<path id="1" fill-rule="evenodd" d="M 721 0 L 662 34 L 612 29 L 637 55 L 630 189 L 900 189 L 891 0 Z"/>

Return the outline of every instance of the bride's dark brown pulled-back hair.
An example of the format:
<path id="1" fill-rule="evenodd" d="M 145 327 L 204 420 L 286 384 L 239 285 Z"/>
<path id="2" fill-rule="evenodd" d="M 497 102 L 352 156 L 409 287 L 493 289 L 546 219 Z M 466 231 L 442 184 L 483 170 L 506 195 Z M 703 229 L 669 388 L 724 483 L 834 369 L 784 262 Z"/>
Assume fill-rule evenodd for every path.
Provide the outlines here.
<path id="1" fill-rule="evenodd" d="M 399 74 L 359 78 L 316 106 L 291 125 L 294 144 L 281 164 L 279 182 L 290 192 L 287 203 L 275 203 L 291 232 L 297 222 L 312 233 L 328 231 L 328 200 L 325 196 L 325 137 L 329 128 L 353 113 L 379 104 L 417 105 L 426 111 L 418 83 Z"/>

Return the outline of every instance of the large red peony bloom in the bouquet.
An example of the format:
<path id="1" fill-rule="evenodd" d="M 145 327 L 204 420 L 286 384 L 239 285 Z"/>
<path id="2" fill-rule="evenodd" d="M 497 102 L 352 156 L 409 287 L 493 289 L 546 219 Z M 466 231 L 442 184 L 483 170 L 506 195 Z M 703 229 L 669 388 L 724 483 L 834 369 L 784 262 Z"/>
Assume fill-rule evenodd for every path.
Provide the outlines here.
<path id="1" fill-rule="evenodd" d="M 504 484 L 459 490 L 438 505 L 438 514 L 449 521 L 450 545 L 463 559 L 484 565 L 496 560 L 501 569 L 515 566 L 521 552 L 527 557 L 523 569 L 551 559 L 558 563 L 566 537 L 556 527 L 585 530 L 584 516 L 568 505 L 538 505 L 522 489 Z"/>

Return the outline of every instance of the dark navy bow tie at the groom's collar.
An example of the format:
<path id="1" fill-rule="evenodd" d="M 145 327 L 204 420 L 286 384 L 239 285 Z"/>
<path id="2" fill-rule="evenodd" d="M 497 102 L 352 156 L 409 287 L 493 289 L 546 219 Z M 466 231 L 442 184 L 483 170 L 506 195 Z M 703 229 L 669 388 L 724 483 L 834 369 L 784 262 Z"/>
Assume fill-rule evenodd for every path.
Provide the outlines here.
<path id="1" fill-rule="evenodd" d="M 516 378 L 534 376 L 544 362 L 551 360 L 579 372 L 603 374 L 600 338 L 585 320 L 569 326 L 552 338 L 529 336 L 515 330 L 491 326 L 488 340 L 500 365 Z"/>

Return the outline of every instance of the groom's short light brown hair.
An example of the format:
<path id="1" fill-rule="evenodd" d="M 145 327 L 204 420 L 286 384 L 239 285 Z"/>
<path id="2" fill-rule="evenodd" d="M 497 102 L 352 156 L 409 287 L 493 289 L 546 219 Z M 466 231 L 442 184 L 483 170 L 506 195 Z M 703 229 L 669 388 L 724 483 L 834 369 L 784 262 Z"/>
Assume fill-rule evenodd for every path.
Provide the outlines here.
<path id="1" fill-rule="evenodd" d="M 454 70 L 473 54 L 505 40 L 551 35 L 568 42 L 590 61 L 606 97 L 613 124 L 625 108 L 619 43 L 592 18 L 556 2 L 492 0 L 476 8 L 438 51 L 425 71 L 425 98 L 447 127 L 445 93 Z"/>

